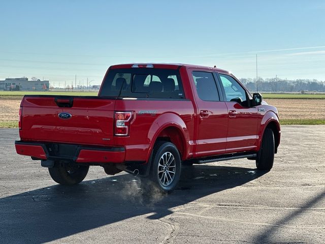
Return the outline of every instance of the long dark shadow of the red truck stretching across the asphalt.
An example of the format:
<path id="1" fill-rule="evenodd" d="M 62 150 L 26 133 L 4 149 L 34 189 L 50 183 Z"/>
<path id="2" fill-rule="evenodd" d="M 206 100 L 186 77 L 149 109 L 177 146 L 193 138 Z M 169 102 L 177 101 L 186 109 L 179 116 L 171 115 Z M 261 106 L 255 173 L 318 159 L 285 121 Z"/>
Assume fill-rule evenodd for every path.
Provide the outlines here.
<path id="1" fill-rule="evenodd" d="M 43 243 L 125 219 L 159 219 L 196 199 L 241 186 L 265 172 L 209 165 L 182 168 L 179 187 L 169 195 L 144 192 L 141 180 L 120 174 L 54 185 L 0 199 L 0 242 Z"/>

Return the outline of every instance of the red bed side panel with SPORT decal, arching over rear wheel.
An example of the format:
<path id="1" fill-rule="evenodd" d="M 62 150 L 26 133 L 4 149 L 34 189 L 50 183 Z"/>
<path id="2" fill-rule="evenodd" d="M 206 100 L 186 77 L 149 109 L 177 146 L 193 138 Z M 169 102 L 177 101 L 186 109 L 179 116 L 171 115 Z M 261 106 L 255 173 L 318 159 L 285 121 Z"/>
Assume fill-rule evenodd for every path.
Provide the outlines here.
<path id="1" fill-rule="evenodd" d="M 115 110 L 129 111 L 129 108 L 134 111 L 130 134 L 114 138 L 115 146 L 126 146 L 126 161 L 147 161 L 156 137 L 167 127 L 178 128 L 183 133 L 184 143 L 193 140 L 194 111 L 191 101 L 116 101 Z M 171 108 L 173 112 L 170 112 Z M 140 110 L 155 110 L 156 113 L 139 114 Z M 185 155 L 185 158 L 188 157 L 189 152 Z"/>

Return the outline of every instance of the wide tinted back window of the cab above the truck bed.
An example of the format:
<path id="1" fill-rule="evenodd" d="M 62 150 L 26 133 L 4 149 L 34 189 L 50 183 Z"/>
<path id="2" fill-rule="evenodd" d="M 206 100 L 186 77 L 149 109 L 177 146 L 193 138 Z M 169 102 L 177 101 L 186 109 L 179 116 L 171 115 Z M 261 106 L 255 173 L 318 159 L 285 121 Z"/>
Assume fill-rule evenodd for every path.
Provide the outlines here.
<path id="1" fill-rule="evenodd" d="M 100 96 L 182 99 L 184 93 L 178 70 L 131 68 L 110 70 Z"/>

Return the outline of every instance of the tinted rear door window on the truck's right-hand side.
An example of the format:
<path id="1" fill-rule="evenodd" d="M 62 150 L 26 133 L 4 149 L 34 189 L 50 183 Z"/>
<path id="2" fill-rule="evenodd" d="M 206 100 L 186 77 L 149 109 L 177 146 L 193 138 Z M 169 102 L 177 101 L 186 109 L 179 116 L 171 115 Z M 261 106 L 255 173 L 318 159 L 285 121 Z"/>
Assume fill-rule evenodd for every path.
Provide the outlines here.
<path id="1" fill-rule="evenodd" d="M 200 99 L 204 101 L 220 101 L 212 73 L 193 71 L 192 76 Z"/>

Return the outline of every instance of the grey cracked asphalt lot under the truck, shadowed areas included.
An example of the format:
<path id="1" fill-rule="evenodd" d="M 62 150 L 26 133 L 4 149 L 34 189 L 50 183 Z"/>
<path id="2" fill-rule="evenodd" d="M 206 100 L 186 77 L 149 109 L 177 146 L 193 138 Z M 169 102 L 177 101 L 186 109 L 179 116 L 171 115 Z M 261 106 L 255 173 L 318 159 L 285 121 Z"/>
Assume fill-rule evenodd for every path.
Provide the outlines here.
<path id="1" fill-rule="evenodd" d="M 240 159 L 182 168 L 169 195 L 90 167 L 73 187 L 0 129 L 0 243 L 325 243 L 325 126 L 283 126 L 270 172 Z"/>

